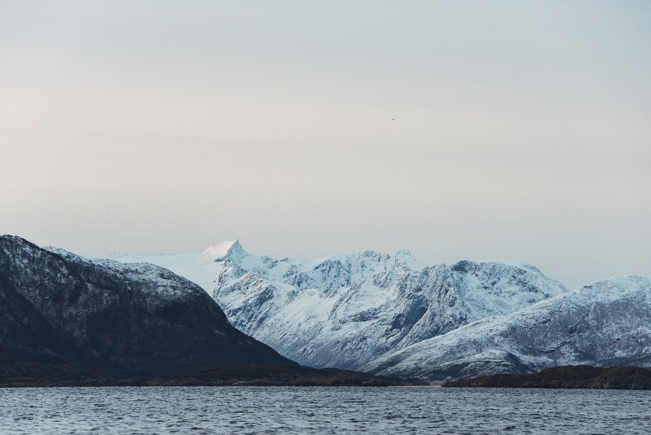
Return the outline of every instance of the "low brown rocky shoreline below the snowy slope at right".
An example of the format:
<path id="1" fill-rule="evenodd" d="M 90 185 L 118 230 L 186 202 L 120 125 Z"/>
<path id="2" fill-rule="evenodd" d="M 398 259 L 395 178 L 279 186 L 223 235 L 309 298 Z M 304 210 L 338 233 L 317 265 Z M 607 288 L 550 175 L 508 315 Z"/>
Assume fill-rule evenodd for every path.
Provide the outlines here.
<path id="1" fill-rule="evenodd" d="M 651 389 L 651 370 L 632 365 L 564 365 L 534 374 L 493 374 L 447 382 L 444 387 Z"/>

